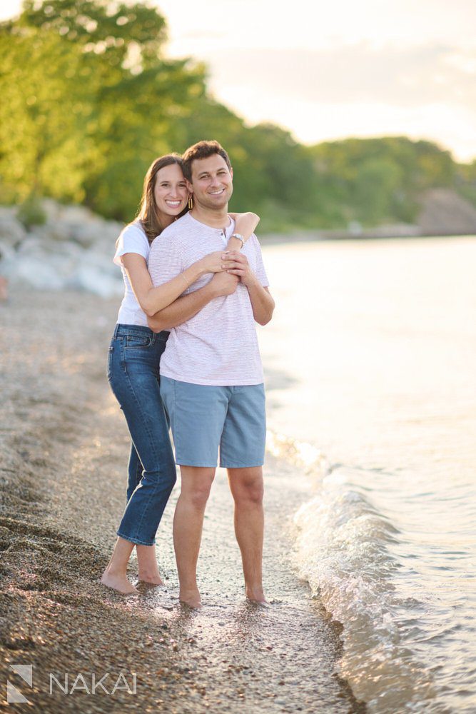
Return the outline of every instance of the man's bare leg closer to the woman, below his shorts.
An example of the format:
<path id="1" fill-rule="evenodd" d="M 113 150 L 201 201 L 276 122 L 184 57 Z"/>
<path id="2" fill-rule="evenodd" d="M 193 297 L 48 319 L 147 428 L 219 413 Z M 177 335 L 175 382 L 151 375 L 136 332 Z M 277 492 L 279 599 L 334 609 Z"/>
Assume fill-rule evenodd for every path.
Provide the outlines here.
<path id="1" fill-rule="evenodd" d="M 200 608 L 197 560 L 203 515 L 215 476 L 214 468 L 181 466 L 182 487 L 173 516 L 173 545 L 176 553 L 181 602 Z"/>

